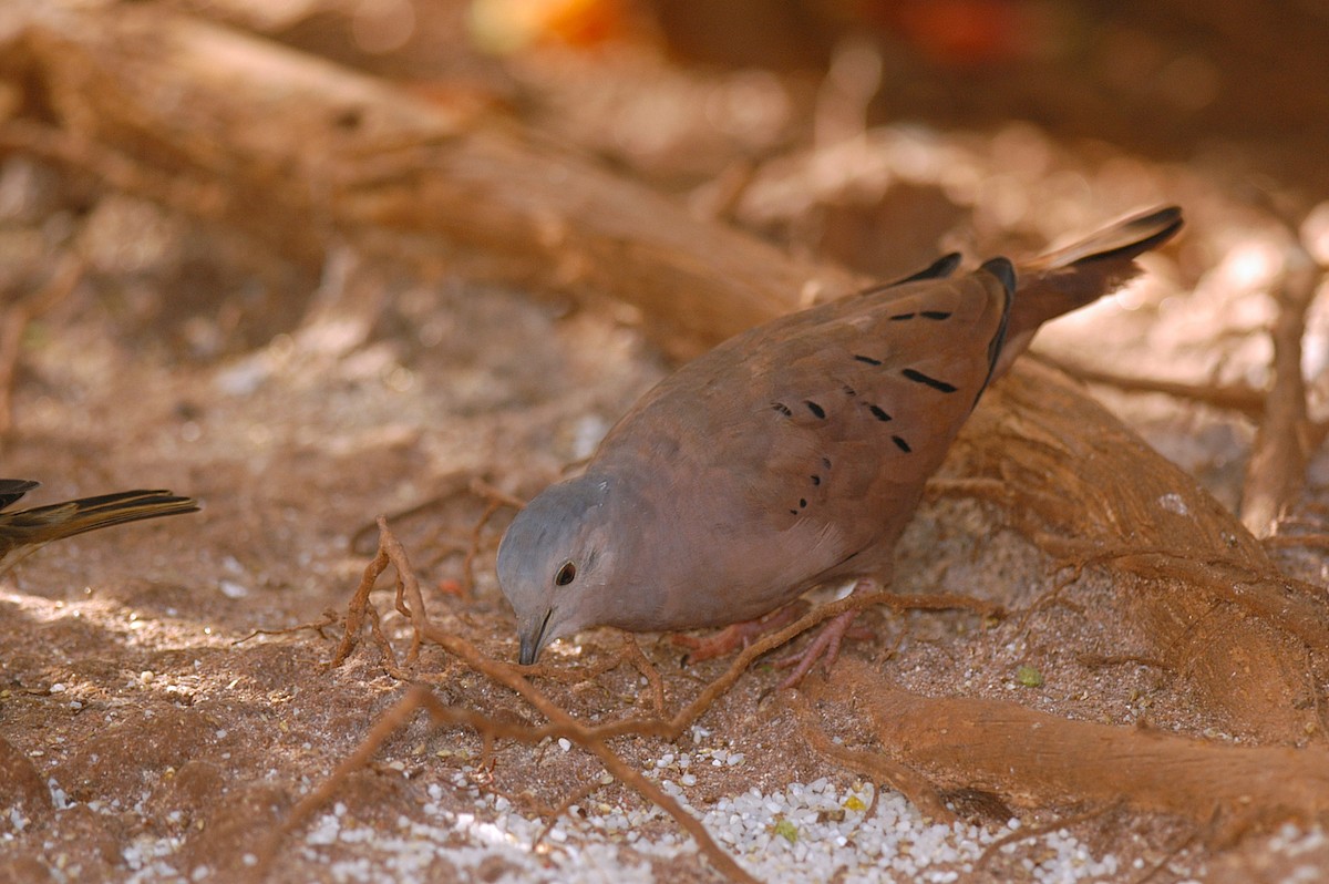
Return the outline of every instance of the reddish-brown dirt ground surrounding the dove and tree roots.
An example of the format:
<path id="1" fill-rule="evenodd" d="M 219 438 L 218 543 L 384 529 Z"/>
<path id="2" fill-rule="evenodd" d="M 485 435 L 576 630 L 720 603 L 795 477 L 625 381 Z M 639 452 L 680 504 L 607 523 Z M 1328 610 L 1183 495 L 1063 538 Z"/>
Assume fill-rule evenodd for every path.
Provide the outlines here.
<path id="1" fill-rule="evenodd" d="M 839 37 L 856 28 L 878 35 L 874 20 L 835 20 L 825 58 L 801 66 L 768 58 L 762 68 L 760 60 L 716 58 L 690 43 L 686 35 L 702 25 L 666 27 L 682 20 L 686 5 L 659 4 L 666 24 L 655 25 L 651 40 L 666 41 L 667 53 L 642 49 L 635 20 L 622 12 L 634 7 L 603 4 L 619 11 L 606 28 L 622 47 L 578 44 L 502 58 L 470 48 L 441 72 L 421 72 L 412 58 L 429 57 L 431 35 L 441 39 L 457 27 L 453 4 L 420 12 L 416 37 L 395 55 L 343 49 L 351 25 L 340 13 L 256 31 L 411 81 L 412 89 L 432 82 L 449 100 L 460 94 L 466 106 L 571 144 L 703 214 L 870 275 L 908 271 L 954 246 L 970 257 L 1027 254 L 1135 207 L 1180 203 L 1184 238 L 1144 261 L 1147 278 L 1047 330 L 1035 350 L 1082 376 L 1189 384 L 1187 395 L 1122 383 L 1091 389 L 1197 487 L 1240 512 L 1260 408 L 1204 401 L 1196 391 L 1271 389 L 1277 371 L 1268 330 L 1281 315 L 1271 292 L 1297 259 L 1318 262 L 1321 275 L 1329 266 L 1329 189 L 1322 177 L 1298 171 L 1322 164 L 1326 144 L 1314 126 L 1271 148 L 1273 140 L 1237 130 L 1211 106 L 1220 93 L 1189 129 L 1160 133 L 1147 114 L 1132 118 L 1123 109 L 1110 133 L 1090 140 L 1084 114 L 1058 108 L 1075 108 L 1082 93 L 1100 94 L 1096 78 L 1110 72 L 1080 68 L 1069 56 L 1039 61 L 1066 77 L 1062 94 L 1049 96 L 1051 86 L 1030 86 L 1037 77 L 1019 60 L 985 56 L 983 65 L 997 66 L 979 76 L 950 56 L 888 52 L 884 85 L 856 98 L 863 77 L 873 80 L 861 73 L 872 66 L 870 53 L 863 53 L 863 37 Z M 977 5 L 991 15 L 1022 8 Z M 1181 39 L 1168 23 L 1151 17 L 1131 29 L 1119 17 L 1095 19 L 1107 13 L 1094 4 L 1076 9 L 1086 16 L 1078 28 L 1100 28 L 1136 47 L 1146 58 L 1138 65 L 1176 55 L 1192 60 L 1183 73 L 1201 82 L 1221 66 L 1215 47 L 1235 39 L 1205 33 L 1174 53 Z M 253 24 L 234 9 L 218 17 Z M 1322 15 L 1316 21 L 1329 32 Z M 1273 40 L 1282 27 L 1309 29 L 1269 23 L 1256 36 Z M 784 45 L 771 28 L 771 45 Z M 1253 52 L 1232 57 L 1272 76 Z M 832 74 L 816 64 L 829 64 Z M 942 86 L 902 90 L 912 96 L 901 100 L 908 113 L 872 109 L 873 94 L 889 104 L 892 77 L 926 82 L 938 65 L 938 82 L 968 84 L 970 92 L 986 84 L 1006 110 L 965 125 L 954 118 L 958 110 L 929 120 L 918 96 Z M 1019 76 L 1001 76 L 1003 69 Z M 43 116 L 24 92 L 31 82 L 4 82 L 4 126 Z M 1313 105 L 1321 82 L 1298 85 L 1289 74 L 1281 85 L 1289 96 L 1317 92 L 1298 98 Z M 1244 100 L 1239 92 L 1232 101 Z M 724 108 L 742 109 L 744 128 Z M 1304 110 L 1289 97 L 1286 114 Z M 1263 113 L 1277 118 L 1276 108 Z M 865 121 L 869 134 L 856 142 L 857 153 L 836 154 L 836 126 L 852 132 Z M 411 622 L 393 608 L 392 572 L 372 604 L 396 659 L 365 627 L 342 665 L 330 662 L 375 556 L 379 514 L 409 553 L 435 622 L 488 658 L 516 658 L 513 618 L 493 573 L 513 509 L 492 504 L 528 498 L 589 456 L 615 417 L 668 371 L 633 310 L 477 279 L 451 257 L 421 273 L 335 235 L 311 263 L 233 223 L 125 193 L 86 170 L 73 174 L 15 138 L 0 138 L 0 355 L 11 354 L 0 368 L 9 391 L 3 473 L 40 480 L 35 504 L 146 487 L 197 497 L 202 510 L 52 544 L 0 577 L 0 879 L 245 880 L 262 869 L 282 881 L 599 880 L 597 869 L 614 863 L 606 879 L 719 880 L 674 820 L 606 775 L 575 740 L 490 740 L 473 727 L 432 724 L 424 714 L 388 736 L 328 803 L 282 831 L 300 799 L 327 783 L 401 699 L 401 674 L 489 723 L 544 722 L 516 693 L 435 643 L 407 661 Z M 845 157 L 882 170 L 892 183 L 861 199 L 827 198 L 827 181 L 841 174 Z M 870 190 L 864 181 L 853 187 Z M 1322 420 L 1329 302 L 1322 282 L 1316 284 L 1321 296 L 1304 315 L 1300 364 L 1309 419 Z M 1313 452 L 1300 472 L 1304 488 L 1273 532 L 1284 540 L 1264 548 L 1289 580 L 1322 596 L 1329 460 Z M 942 471 L 944 480 L 966 476 L 965 463 Z M 860 832 L 867 843 L 893 814 L 926 828 L 926 814 L 902 799 L 892 804 L 889 788 L 877 796 L 872 776 L 807 738 L 812 727 L 841 747 L 890 755 L 863 711 L 859 691 L 870 685 L 855 669 L 863 662 L 922 697 L 1013 702 L 1071 722 L 1324 758 L 1318 651 L 1308 646 L 1297 662 L 1305 731 L 1293 739 L 1245 726 L 1240 715 L 1216 711 L 1187 671 L 1108 645 L 1120 633 L 1100 622 L 1110 610 L 1100 600 L 1127 592 L 1127 577 L 1094 565 L 1071 574 L 1017 521 L 991 500 L 941 489 L 897 553 L 893 590 L 962 596 L 1001 614 L 874 609 L 864 617 L 874 638 L 848 646 L 848 669 L 829 679 L 813 675 L 797 697 L 775 690 L 776 651 L 678 740 L 630 735 L 607 744 L 653 782 L 668 782 L 666 791 L 715 829 L 722 818 L 747 812 L 736 802 L 752 790 L 763 800 L 781 796 L 781 808 L 819 807 L 803 798 L 799 804 L 788 791 L 797 784 L 803 795 L 816 784 L 820 811 L 771 811 L 764 837 L 730 841 L 754 875 L 771 880 L 872 880 L 870 872 L 817 865 L 799 851 L 839 836 L 832 829 L 847 841 Z M 1297 536 L 1304 541 L 1286 540 Z M 1058 585 L 1065 589 L 1050 602 Z M 622 642 L 611 630 L 563 642 L 549 654 L 556 674 L 533 682 L 582 722 L 651 715 L 655 695 L 638 667 L 595 671 Z M 686 665 L 668 637 L 642 637 L 641 645 L 663 679 L 670 713 L 731 662 Z M 1249 826 L 1221 814 L 1197 822 L 1128 800 L 1030 800 L 1019 790 L 932 775 L 962 820 L 946 837 L 965 829 L 966 839 L 990 844 L 1011 831 L 1011 818 L 1030 836 L 981 860 L 964 851 L 948 859 L 940 848 L 925 859 L 928 848 L 916 841 L 913 873 L 881 859 L 867 865 L 876 875 L 1329 876 L 1329 839 L 1314 814 Z M 569 800 L 574 807 L 556 816 Z M 1322 815 L 1325 802 L 1316 807 Z M 546 822 L 552 828 L 542 832 Z M 1059 851 L 1079 851 L 1079 859 L 1063 865 Z M 1065 868 L 1079 872 L 1058 877 L 1071 875 L 1058 871 Z"/>

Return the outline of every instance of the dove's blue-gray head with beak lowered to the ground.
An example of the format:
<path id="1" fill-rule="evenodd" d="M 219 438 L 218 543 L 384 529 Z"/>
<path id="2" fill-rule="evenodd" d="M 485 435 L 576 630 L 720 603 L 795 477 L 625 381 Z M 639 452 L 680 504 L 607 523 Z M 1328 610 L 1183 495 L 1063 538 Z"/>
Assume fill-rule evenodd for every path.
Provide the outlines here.
<path id="1" fill-rule="evenodd" d="M 498 584 L 517 613 L 521 662 L 556 638 L 598 626 L 613 592 L 610 480 L 552 485 L 517 513 L 498 545 Z"/>

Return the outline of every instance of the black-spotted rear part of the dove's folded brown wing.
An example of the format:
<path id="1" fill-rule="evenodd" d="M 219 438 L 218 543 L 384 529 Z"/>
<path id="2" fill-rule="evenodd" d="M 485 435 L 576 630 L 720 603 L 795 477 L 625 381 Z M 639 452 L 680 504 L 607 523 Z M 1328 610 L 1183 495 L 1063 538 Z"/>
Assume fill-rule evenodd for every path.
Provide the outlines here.
<path id="1" fill-rule="evenodd" d="M 769 440 L 751 489 L 768 522 L 831 521 L 851 545 L 902 524 L 901 504 L 912 510 L 986 384 L 1005 310 L 1001 282 L 981 271 L 791 323 L 746 417 Z"/>

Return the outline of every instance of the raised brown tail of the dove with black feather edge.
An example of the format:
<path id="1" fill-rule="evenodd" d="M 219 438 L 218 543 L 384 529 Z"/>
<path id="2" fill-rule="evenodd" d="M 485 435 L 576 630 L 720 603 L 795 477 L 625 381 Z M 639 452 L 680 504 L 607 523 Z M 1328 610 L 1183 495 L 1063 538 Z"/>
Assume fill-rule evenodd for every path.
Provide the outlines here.
<path id="1" fill-rule="evenodd" d="M 1098 300 L 1134 279 L 1140 273 L 1135 258 L 1163 245 L 1180 229 L 1181 210 L 1167 206 L 1132 215 L 1021 263 L 1006 343 L 993 374 L 1005 374 L 1045 322 Z"/>

